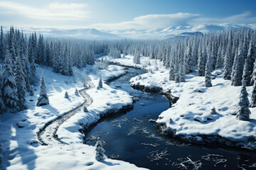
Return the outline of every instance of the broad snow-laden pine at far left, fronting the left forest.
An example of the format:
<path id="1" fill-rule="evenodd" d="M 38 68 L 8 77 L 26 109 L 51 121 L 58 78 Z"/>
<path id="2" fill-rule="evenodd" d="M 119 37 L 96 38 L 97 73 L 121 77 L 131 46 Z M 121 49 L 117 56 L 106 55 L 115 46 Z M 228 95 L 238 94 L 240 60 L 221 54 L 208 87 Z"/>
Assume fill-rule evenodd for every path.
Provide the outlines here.
<path id="1" fill-rule="evenodd" d="M 18 104 L 17 86 L 14 80 L 14 73 L 11 69 L 11 58 L 6 56 L 3 72 L 2 93 L 6 112 L 16 113 L 20 110 Z"/>

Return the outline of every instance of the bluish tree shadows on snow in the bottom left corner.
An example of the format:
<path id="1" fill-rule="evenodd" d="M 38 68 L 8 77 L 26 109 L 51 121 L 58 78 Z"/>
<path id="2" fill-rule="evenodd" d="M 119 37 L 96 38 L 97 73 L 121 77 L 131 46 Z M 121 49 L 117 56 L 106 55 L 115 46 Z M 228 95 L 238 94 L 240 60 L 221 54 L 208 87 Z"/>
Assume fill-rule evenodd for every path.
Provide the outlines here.
<path id="1" fill-rule="evenodd" d="M 7 169 L 11 164 L 21 164 L 19 169 L 36 169 L 36 154 L 33 146 L 29 145 L 34 139 L 35 128 L 28 121 L 27 111 L 19 113 L 4 113 L 1 125 L 1 142 L 3 145 L 3 159 L 0 169 Z M 13 159 L 16 159 L 12 161 Z M 12 163 L 11 163 L 12 162 Z M 25 168 L 26 167 L 26 168 Z"/>

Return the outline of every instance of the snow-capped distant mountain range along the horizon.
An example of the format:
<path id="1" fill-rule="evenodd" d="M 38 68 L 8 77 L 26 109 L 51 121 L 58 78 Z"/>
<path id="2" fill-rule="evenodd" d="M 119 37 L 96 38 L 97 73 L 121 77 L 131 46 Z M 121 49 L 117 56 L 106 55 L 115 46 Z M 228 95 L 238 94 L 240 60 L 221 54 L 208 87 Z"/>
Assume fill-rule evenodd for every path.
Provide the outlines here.
<path id="1" fill-rule="evenodd" d="M 224 29 L 256 28 L 256 26 L 242 27 L 234 24 L 225 25 L 199 25 L 199 26 L 170 26 L 168 28 L 147 29 L 120 29 L 120 30 L 96 30 L 95 28 L 56 29 L 56 28 L 21 28 L 25 33 L 43 33 L 49 36 L 74 37 L 86 39 L 121 39 L 121 38 L 172 38 L 175 36 L 187 36 L 193 34 L 216 33 Z M 5 27 L 4 30 L 9 30 Z"/>

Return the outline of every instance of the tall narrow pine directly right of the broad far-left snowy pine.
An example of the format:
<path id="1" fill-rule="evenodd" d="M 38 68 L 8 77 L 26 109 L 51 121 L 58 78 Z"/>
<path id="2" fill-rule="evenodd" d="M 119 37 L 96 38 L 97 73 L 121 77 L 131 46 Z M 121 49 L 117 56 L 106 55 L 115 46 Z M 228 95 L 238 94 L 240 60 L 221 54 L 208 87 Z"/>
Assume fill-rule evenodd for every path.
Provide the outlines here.
<path id="1" fill-rule="evenodd" d="M 17 94 L 18 94 L 18 104 L 20 111 L 23 111 L 27 108 L 26 106 L 26 81 L 24 79 L 24 73 L 22 69 L 21 56 L 18 55 L 16 57 L 15 63 L 15 81 L 17 86 Z"/>

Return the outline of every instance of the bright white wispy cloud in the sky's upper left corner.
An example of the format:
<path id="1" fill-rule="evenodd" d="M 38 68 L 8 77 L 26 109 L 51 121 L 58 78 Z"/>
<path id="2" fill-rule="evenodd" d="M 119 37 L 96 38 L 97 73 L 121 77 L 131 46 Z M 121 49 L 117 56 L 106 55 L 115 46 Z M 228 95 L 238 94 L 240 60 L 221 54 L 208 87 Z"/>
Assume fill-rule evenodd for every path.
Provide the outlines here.
<path id="1" fill-rule="evenodd" d="M 51 3 L 41 8 L 36 8 L 10 1 L 0 1 L 0 14 L 21 15 L 25 18 L 47 21 L 84 21 L 89 14 L 86 8 L 86 4 L 75 3 Z"/>

